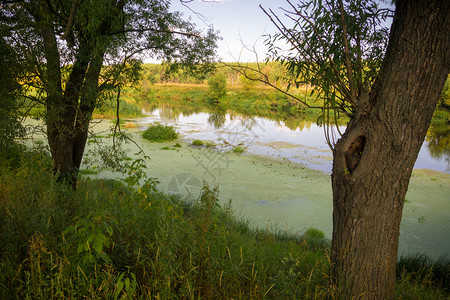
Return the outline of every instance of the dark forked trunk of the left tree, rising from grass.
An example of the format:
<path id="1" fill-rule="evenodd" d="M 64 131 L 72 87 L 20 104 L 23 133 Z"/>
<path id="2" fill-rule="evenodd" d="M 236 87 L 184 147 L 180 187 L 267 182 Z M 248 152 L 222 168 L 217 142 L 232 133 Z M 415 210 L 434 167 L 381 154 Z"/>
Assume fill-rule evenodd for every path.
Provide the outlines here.
<path id="1" fill-rule="evenodd" d="M 61 64 L 54 24 L 47 9 L 30 13 L 40 24 L 47 69 L 47 138 L 58 181 L 76 188 L 78 170 L 86 146 L 89 122 L 98 96 L 98 80 L 104 49 L 94 37 L 79 37 L 80 45 L 65 89 L 61 85 Z"/>

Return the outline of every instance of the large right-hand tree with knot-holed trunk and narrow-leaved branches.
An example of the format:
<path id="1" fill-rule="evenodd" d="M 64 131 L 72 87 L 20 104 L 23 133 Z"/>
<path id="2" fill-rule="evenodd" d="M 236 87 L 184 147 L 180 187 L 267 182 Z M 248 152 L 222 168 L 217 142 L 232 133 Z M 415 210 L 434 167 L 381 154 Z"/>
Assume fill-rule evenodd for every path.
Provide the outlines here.
<path id="1" fill-rule="evenodd" d="M 350 119 L 340 139 L 327 135 L 333 283 L 344 299 L 393 298 L 409 179 L 450 71 L 450 2 L 395 1 L 389 36 L 390 11 L 374 1 L 287 2 L 287 21 L 265 10 L 279 29 L 270 50 L 300 78 L 294 84 L 321 92 L 327 132 L 338 114 Z"/>

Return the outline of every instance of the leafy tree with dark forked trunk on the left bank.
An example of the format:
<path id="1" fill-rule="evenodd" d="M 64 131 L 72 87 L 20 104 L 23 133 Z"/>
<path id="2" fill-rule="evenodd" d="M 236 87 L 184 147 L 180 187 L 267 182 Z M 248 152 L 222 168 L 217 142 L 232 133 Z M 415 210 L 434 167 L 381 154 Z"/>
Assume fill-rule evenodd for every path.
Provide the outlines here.
<path id="1" fill-rule="evenodd" d="M 139 79 L 141 53 L 193 68 L 216 34 L 170 12 L 169 0 L 6 1 L 0 26 L 25 66 L 18 82 L 44 120 L 55 172 L 76 187 L 93 110 Z"/>

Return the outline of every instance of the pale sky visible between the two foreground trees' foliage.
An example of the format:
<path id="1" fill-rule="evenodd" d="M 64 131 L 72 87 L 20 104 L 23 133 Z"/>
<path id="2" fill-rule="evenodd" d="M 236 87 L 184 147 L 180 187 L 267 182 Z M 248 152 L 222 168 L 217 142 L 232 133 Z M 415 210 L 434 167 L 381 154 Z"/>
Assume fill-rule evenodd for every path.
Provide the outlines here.
<path id="1" fill-rule="evenodd" d="M 171 9 L 181 11 L 185 18 L 191 17 L 191 22 L 198 28 L 207 28 L 208 24 L 220 31 L 223 39 L 218 42 L 217 53 L 222 61 L 254 62 L 255 54 L 245 47 L 255 48 L 258 60 L 263 61 L 267 52 L 263 35 L 276 32 L 275 26 L 259 8 L 260 4 L 280 14 L 278 7 L 286 7 L 284 0 L 193 0 L 186 4 L 192 11 L 203 15 L 205 21 L 180 1 L 172 1 Z"/>

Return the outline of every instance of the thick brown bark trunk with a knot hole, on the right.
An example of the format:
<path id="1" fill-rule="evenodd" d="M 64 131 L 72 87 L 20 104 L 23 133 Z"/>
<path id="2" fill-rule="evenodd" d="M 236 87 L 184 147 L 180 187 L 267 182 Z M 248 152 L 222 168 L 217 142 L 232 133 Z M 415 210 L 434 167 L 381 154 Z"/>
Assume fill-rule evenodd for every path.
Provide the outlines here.
<path id="1" fill-rule="evenodd" d="M 344 299 L 392 299 L 409 178 L 449 73 L 447 0 L 398 0 L 381 76 L 333 158 L 332 277 Z"/>

